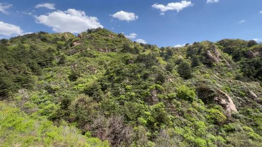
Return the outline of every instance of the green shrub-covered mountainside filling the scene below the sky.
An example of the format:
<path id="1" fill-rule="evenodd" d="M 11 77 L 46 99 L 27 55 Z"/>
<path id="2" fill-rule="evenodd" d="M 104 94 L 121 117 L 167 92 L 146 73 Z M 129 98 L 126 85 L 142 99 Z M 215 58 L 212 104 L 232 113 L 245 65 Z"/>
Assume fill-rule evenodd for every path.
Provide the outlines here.
<path id="1" fill-rule="evenodd" d="M 254 41 L 159 48 L 106 29 L 2 39 L 0 147 L 261 147 L 261 84 Z"/>

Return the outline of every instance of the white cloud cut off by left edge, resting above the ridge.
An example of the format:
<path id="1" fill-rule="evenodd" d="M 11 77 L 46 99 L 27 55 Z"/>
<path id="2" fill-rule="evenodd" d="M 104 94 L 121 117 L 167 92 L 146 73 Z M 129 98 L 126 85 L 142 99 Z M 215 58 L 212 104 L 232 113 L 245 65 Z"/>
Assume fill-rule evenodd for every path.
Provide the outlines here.
<path id="1" fill-rule="evenodd" d="M 22 34 L 23 30 L 20 27 L 0 21 L 0 35 L 12 36 Z"/>

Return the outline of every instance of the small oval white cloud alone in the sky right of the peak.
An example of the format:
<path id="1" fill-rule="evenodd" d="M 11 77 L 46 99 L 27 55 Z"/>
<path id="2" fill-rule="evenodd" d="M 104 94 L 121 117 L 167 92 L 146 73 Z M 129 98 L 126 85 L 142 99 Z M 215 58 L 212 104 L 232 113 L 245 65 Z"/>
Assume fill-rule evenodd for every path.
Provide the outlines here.
<path id="1" fill-rule="evenodd" d="M 138 19 L 138 16 L 131 12 L 119 11 L 112 15 L 113 18 L 117 18 L 119 20 L 125 20 L 127 22 Z"/>

